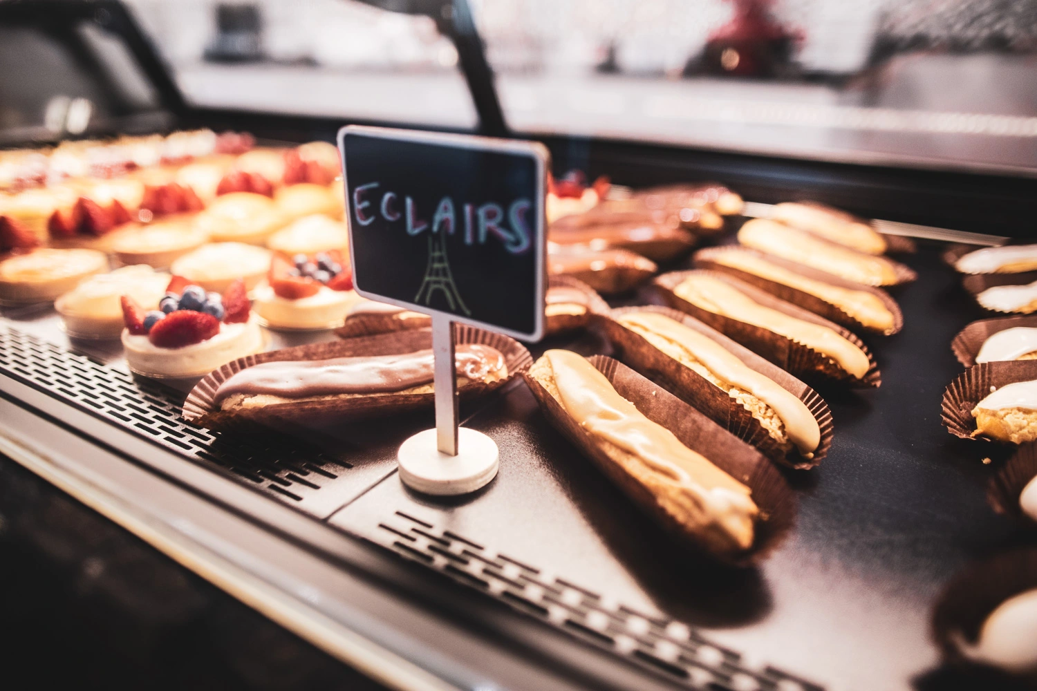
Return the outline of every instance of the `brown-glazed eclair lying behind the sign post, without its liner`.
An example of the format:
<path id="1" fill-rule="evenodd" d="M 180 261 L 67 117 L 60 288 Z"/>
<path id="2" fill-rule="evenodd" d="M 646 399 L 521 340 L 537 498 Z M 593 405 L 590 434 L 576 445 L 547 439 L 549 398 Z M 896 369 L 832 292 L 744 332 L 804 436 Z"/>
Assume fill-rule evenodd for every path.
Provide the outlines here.
<path id="1" fill-rule="evenodd" d="M 455 349 L 457 387 L 507 378 L 504 355 L 481 344 Z M 402 394 L 430 394 L 431 349 L 400 355 L 334 357 L 319 361 L 274 361 L 236 372 L 217 388 L 221 410 Z"/>

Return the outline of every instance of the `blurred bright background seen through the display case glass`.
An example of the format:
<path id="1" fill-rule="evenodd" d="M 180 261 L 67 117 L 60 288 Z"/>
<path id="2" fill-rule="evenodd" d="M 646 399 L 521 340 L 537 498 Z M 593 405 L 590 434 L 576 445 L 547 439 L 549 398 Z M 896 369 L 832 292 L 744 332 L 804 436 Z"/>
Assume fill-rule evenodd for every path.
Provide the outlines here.
<path id="1" fill-rule="evenodd" d="M 470 3 L 521 133 L 1037 170 L 1037 0 Z M 129 4 L 194 105 L 476 124 L 428 17 L 354 0 Z"/>

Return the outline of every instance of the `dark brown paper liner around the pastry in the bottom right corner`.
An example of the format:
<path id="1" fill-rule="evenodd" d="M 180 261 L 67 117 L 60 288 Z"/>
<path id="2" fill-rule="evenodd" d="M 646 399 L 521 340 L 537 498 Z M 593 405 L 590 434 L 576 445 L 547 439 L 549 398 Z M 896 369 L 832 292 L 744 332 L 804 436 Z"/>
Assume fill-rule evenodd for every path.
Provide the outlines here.
<path id="1" fill-rule="evenodd" d="M 969 663 L 970 660 L 961 653 L 959 641 L 963 639 L 975 644 L 986 617 L 1001 603 L 1035 587 L 1037 549 L 1033 547 L 966 566 L 947 584 L 932 608 L 931 634 L 944 659 L 952 663 Z M 1030 678 L 1037 681 L 1037 674 L 1033 672 Z"/>

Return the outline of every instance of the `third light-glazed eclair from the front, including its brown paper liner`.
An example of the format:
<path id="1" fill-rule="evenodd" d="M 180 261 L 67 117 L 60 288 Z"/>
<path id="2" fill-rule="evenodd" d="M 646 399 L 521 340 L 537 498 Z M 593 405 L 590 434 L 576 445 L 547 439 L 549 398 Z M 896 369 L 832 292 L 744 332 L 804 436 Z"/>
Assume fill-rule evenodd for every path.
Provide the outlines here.
<path id="1" fill-rule="evenodd" d="M 794 375 L 818 375 L 868 386 L 881 381 L 867 348 L 851 333 L 737 279 L 693 270 L 661 276 L 655 284 L 673 307 L 690 312 Z"/>

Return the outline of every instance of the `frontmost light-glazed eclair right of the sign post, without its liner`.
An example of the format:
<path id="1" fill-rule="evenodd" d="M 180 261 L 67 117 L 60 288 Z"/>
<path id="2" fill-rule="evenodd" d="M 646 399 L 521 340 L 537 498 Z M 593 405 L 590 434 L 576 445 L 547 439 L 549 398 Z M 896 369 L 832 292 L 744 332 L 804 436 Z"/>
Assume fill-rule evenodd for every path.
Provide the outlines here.
<path id="1" fill-rule="evenodd" d="M 753 543 L 753 519 L 759 513 L 750 489 L 645 418 L 620 396 L 585 358 L 568 350 L 549 350 L 559 403 L 581 428 L 633 454 L 648 468 L 677 485 L 701 521 L 704 514 L 721 525 L 738 547 Z"/>

